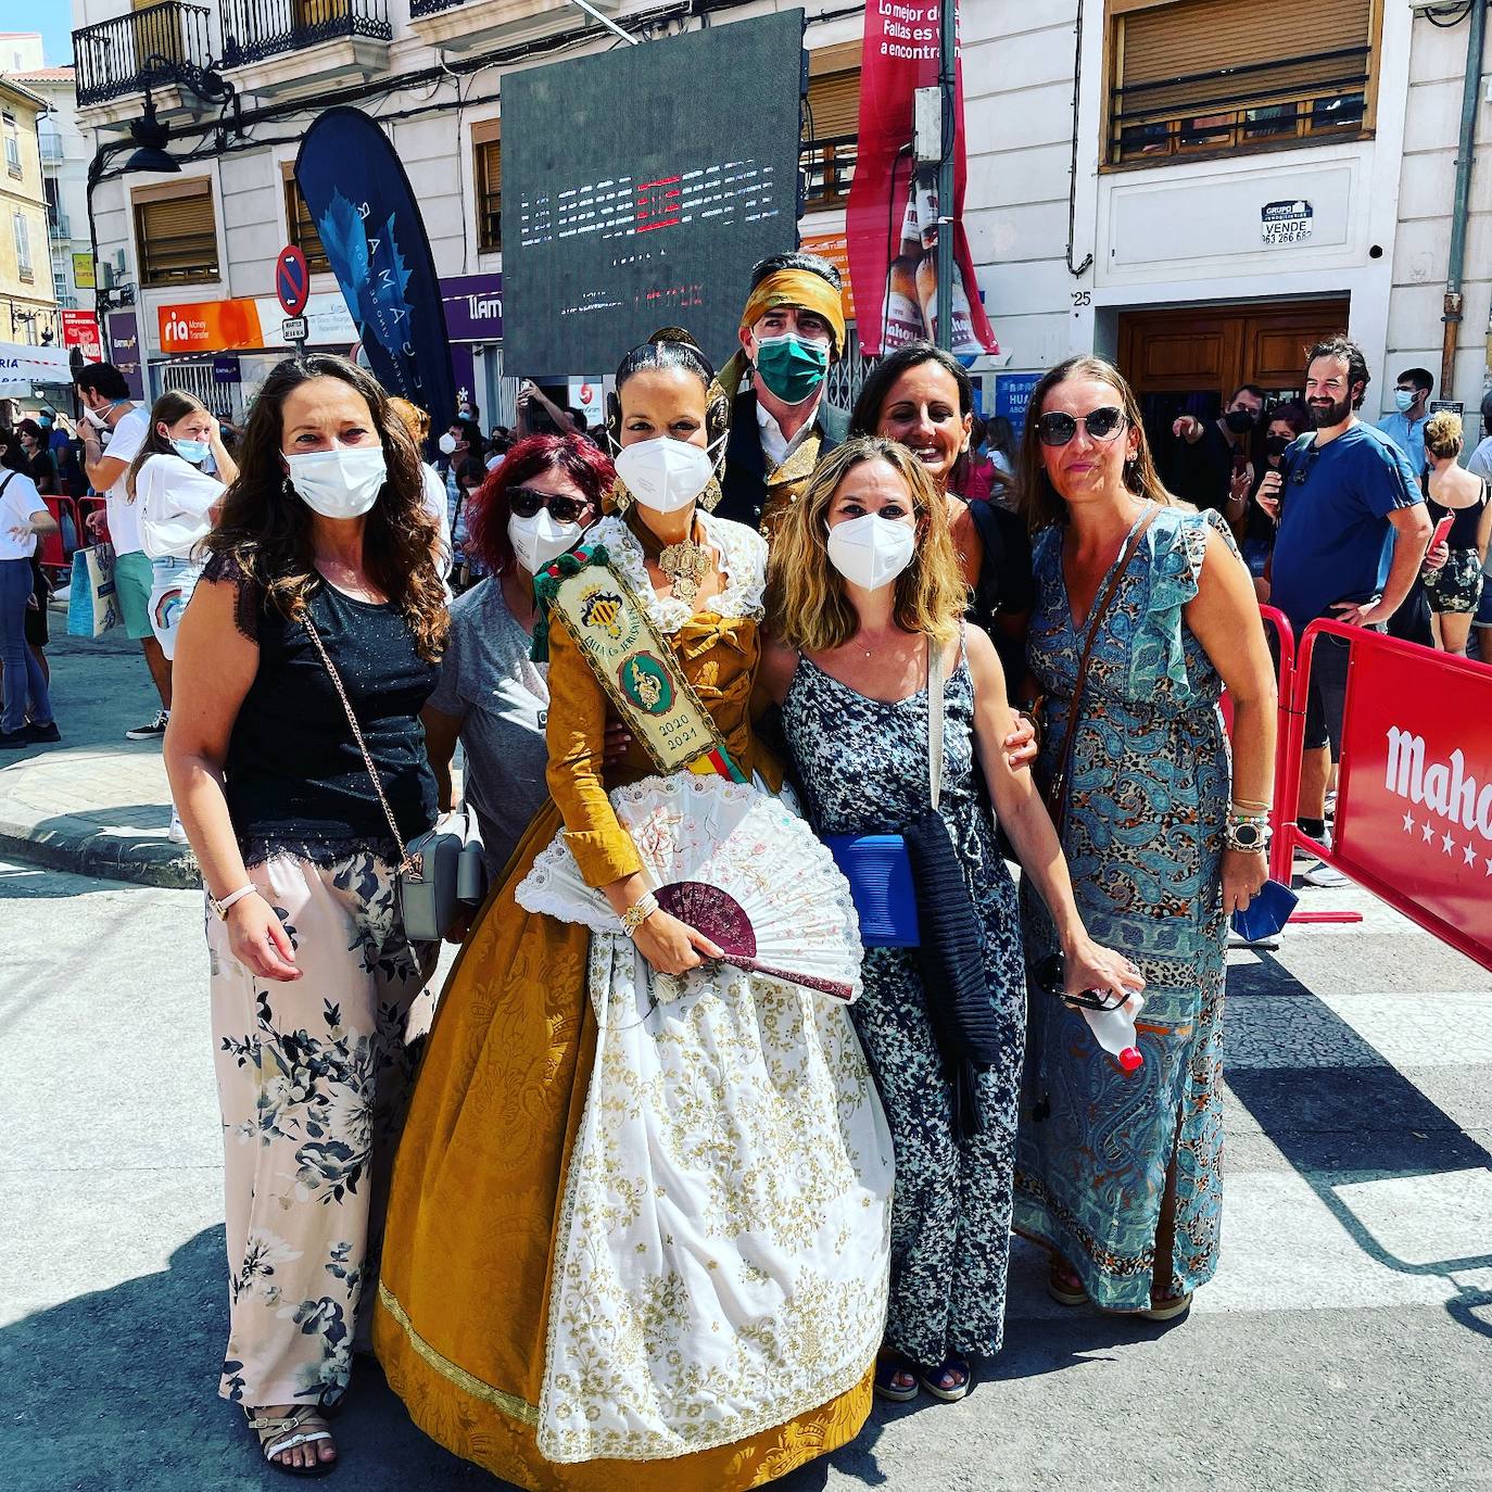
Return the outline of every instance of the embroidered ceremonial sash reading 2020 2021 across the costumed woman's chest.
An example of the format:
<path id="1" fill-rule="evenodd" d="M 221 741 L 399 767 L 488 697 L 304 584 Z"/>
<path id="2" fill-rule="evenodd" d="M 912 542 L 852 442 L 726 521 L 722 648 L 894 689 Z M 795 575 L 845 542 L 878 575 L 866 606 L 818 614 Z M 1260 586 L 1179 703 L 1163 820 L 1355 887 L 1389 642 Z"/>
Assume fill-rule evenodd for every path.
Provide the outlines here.
<path id="1" fill-rule="evenodd" d="M 745 782 L 710 712 L 604 545 L 561 555 L 534 576 L 548 624 L 558 618 L 659 773 L 716 771 Z"/>

